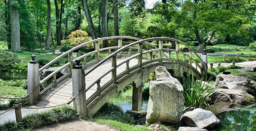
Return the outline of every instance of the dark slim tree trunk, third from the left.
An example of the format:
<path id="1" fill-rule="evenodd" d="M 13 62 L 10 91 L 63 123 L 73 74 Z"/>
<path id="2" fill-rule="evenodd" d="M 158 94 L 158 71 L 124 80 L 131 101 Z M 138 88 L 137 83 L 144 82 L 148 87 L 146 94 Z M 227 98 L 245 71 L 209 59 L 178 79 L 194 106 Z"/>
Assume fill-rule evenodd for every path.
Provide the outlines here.
<path id="1" fill-rule="evenodd" d="M 61 46 L 61 33 L 60 33 L 60 10 L 58 9 L 58 2 L 54 0 L 55 4 L 55 14 L 56 14 L 56 40 L 57 45 Z"/>

